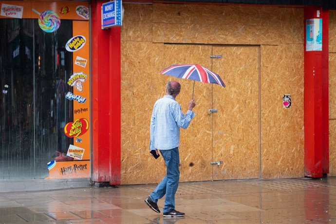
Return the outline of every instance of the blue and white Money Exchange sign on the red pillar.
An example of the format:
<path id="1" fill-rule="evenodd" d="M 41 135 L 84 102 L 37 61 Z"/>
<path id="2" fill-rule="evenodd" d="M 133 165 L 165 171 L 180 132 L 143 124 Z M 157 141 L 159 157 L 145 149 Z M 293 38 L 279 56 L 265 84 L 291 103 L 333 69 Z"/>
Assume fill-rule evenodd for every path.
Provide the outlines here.
<path id="1" fill-rule="evenodd" d="M 101 28 L 121 26 L 122 0 L 114 0 L 103 3 L 101 6 Z"/>

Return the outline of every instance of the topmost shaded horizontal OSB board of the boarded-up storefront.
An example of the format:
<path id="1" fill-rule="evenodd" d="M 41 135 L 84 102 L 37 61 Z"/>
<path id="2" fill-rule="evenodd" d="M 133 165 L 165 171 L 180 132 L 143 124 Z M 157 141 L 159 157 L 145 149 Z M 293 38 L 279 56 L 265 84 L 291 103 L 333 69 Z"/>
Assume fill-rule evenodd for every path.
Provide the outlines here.
<path id="1" fill-rule="evenodd" d="M 238 5 L 153 4 L 154 23 L 302 26 L 303 9 Z"/>

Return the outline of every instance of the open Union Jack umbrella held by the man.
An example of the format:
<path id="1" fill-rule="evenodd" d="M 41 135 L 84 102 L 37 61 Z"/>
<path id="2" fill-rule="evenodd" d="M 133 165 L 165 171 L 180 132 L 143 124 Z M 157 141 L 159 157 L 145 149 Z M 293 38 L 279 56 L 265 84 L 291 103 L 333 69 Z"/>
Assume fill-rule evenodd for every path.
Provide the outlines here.
<path id="1" fill-rule="evenodd" d="M 204 83 L 215 83 L 225 87 L 223 80 L 218 74 L 198 64 L 171 65 L 161 71 L 161 74 L 171 75 L 177 78 L 194 80 L 194 86 L 192 88 L 192 98 L 194 98 L 195 81 L 200 81 Z"/>

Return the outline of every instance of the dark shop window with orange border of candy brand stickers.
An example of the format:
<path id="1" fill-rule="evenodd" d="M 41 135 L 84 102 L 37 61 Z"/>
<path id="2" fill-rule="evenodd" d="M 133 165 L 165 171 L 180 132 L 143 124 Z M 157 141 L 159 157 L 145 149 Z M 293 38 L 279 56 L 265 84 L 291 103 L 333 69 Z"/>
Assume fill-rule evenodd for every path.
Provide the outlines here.
<path id="1" fill-rule="evenodd" d="M 67 49 L 89 22 L 59 21 L 46 32 L 38 19 L 0 17 L 0 180 L 89 177 L 89 44 Z"/>

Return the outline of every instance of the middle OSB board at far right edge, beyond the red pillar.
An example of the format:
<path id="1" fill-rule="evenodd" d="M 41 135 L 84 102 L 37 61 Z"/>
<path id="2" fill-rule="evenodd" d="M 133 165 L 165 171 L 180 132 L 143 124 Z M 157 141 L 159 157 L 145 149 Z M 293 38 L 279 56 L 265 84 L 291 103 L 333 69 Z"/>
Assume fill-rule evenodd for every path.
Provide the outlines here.
<path id="1" fill-rule="evenodd" d="M 336 53 L 329 53 L 329 119 L 336 119 Z"/>

